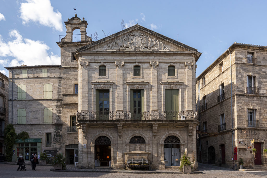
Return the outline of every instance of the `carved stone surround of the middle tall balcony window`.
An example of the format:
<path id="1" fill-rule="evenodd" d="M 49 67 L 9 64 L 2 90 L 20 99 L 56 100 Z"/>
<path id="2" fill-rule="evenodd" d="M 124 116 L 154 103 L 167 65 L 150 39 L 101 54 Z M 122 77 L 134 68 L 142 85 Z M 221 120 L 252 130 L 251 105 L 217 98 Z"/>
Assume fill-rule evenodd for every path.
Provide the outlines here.
<path id="1" fill-rule="evenodd" d="M 132 90 L 144 90 L 144 111 L 147 111 L 147 87 L 149 82 L 144 81 L 136 81 L 136 82 L 125 82 L 127 84 L 127 103 L 128 103 L 128 111 L 131 110 L 131 89 Z"/>

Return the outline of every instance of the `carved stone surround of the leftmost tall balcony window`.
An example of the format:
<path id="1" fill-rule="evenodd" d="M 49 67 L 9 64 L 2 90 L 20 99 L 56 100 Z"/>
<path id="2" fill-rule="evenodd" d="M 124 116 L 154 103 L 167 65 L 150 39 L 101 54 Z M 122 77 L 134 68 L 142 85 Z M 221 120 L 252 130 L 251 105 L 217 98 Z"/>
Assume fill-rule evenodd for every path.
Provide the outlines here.
<path id="1" fill-rule="evenodd" d="M 92 90 L 93 90 L 93 95 L 92 95 L 92 111 L 96 110 L 96 90 L 109 90 L 109 111 L 112 111 L 112 101 L 114 100 L 115 102 L 115 96 L 113 96 L 112 92 L 112 86 L 114 82 L 91 82 L 92 85 Z"/>

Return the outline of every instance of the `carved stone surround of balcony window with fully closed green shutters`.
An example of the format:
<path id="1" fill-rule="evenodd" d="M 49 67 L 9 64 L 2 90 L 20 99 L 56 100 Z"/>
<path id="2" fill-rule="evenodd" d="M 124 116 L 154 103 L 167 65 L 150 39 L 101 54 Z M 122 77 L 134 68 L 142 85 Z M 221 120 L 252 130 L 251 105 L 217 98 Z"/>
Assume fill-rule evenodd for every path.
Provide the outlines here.
<path id="1" fill-rule="evenodd" d="M 184 101 L 182 102 L 182 98 L 185 98 L 184 91 L 186 91 L 186 85 L 184 82 L 160 82 L 162 85 L 162 110 L 165 110 L 165 89 L 178 89 L 178 103 L 179 103 L 179 111 L 182 111 L 182 105 L 184 106 Z"/>

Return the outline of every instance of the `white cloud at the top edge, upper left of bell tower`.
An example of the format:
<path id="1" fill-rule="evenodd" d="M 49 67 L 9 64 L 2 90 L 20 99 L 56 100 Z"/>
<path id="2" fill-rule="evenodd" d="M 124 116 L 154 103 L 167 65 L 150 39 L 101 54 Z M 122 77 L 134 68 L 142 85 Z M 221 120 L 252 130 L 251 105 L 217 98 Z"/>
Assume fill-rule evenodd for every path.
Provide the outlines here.
<path id="1" fill-rule="evenodd" d="M 57 31 L 63 31 L 61 13 L 58 10 L 54 12 L 54 8 L 51 6 L 49 0 L 26 1 L 25 3 L 21 3 L 20 6 L 20 18 L 22 18 L 23 24 L 33 21 L 44 26 L 52 27 Z"/>

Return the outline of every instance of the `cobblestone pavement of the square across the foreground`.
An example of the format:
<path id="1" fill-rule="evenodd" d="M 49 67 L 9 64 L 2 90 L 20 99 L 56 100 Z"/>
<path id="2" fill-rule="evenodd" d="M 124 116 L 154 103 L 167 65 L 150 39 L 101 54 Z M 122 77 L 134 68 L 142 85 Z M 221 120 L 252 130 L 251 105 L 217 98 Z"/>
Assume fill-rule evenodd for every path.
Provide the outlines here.
<path id="1" fill-rule="evenodd" d="M 151 174 L 135 174 L 125 173 L 104 173 L 104 172 L 53 172 L 50 171 L 52 166 L 40 166 L 36 165 L 36 171 L 32 171 L 30 165 L 26 165 L 27 171 L 17 171 L 17 165 L 14 164 L 0 164 L 0 177 L 11 178 L 11 177 L 101 177 L 101 178 L 174 178 L 174 177 L 196 177 L 196 178 L 209 178 L 209 177 L 267 177 L 267 171 L 261 172 L 239 172 L 233 171 L 228 168 L 216 167 L 206 164 L 199 163 L 199 170 L 203 171 L 201 174 L 170 174 L 167 173 L 151 173 Z M 74 169 L 73 166 L 68 166 L 68 169 Z"/>

